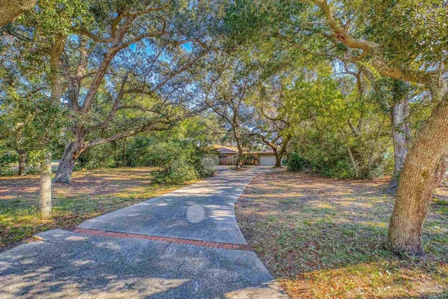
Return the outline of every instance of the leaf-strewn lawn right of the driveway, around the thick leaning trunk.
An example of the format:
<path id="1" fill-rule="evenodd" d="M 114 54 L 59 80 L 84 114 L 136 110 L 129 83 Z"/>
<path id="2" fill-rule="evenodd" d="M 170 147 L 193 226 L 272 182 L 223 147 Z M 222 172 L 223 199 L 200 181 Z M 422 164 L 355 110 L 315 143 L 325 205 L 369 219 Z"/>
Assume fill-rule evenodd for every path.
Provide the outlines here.
<path id="1" fill-rule="evenodd" d="M 437 190 L 424 258 L 384 248 L 388 181 L 277 172 L 255 177 L 237 201 L 249 246 L 291 298 L 448 298 L 448 190 Z"/>

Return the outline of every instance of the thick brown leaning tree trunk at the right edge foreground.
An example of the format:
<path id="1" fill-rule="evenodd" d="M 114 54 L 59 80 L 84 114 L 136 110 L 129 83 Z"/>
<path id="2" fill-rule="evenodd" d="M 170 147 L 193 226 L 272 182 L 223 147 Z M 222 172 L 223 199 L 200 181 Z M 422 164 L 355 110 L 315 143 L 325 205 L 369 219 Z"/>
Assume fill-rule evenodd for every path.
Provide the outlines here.
<path id="1" fill-rule="evenodd" d="M 423 222 L 433 191 L 447 170 L 445 153 L 448 153 L 448 92 L 407 153 L 388 230 L 391 250 L 423 253 Z"/>

